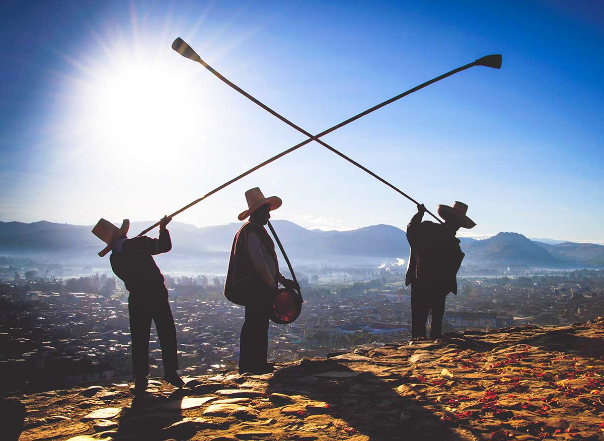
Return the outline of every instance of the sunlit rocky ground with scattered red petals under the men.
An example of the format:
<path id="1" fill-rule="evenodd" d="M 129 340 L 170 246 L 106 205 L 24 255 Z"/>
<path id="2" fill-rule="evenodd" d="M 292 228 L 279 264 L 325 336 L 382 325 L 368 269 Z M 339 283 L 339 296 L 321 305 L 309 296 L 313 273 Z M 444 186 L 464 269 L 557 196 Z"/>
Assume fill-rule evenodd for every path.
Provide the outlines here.
<path id="1" fill-rule="evenodd" d="M 20 441 L 604 440 L 604 318 L 21 397 Z"/>

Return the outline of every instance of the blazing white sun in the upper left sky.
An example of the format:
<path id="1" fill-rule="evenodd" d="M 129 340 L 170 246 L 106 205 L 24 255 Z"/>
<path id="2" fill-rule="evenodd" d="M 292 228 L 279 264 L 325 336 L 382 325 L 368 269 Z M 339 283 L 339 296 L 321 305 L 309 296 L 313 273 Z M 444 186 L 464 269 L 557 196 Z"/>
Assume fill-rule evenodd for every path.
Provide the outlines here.
<path id="1" fill-rule="evenodd" d="M 153 48 L 137 48 L 135 54 L 117 54 L 91 66 L 94 75 L 75 93 L 79 105 L 74 120 L 87 143 L 111 159 L 124 160 L 153 156 L 167 147 L 178 155 L 194 145 L 195 121 L 203 111 L 193 98 L 199 87 L 169 49 L 157 56 Z"/>

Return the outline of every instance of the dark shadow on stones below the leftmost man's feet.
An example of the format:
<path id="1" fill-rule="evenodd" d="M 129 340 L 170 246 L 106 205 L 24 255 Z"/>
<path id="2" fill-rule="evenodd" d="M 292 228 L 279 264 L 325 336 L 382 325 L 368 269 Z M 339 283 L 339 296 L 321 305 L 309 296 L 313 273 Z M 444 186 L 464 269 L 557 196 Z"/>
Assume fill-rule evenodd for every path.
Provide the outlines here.
<path id="1" fill-rule="evenodd" d="M 183 436 L 167 436 L 164 428 L 182 420 L 182 393 L 176 391 L 169 397 L 155 394 L 138 394 L 132 399 L 130 407 L 124 407 L 118 419 L 117 440 L 150 441 L 188 439 Z M 194 433 L 191 434 L 191 436 Z"/>

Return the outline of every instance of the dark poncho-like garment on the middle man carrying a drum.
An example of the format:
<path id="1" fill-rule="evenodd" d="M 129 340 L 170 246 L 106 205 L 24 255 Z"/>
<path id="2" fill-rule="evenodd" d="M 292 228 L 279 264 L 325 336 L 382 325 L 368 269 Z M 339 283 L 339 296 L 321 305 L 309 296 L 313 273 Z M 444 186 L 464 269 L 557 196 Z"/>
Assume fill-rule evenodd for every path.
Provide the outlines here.
<path id="1" fill-rule="evenodd" d="M 258 233 L 262 243 L 275 254 L 278 271 L 277 253 L 275 253 L 275 243 L 271 236 L 262 225 L 254 224 L 254 222 L 243 224 L 233 239 L 224 290 L 224 295 L 228 300 L 243 306 L 260 301 L 261 299 L 254 297 L 258 294 L 262 294 L 262 300 L 272 301 L 270 289 L 254 270 L 254 265 L 249 258 L 248 234 L 250 231 Z"/>

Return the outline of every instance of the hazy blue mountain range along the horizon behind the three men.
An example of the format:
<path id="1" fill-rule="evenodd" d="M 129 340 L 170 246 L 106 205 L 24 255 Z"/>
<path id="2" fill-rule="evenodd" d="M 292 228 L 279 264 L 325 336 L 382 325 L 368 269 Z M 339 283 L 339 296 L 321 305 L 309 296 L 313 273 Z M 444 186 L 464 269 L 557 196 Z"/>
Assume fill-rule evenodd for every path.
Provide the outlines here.
<path id="1" fill-rule="evenodd" d="M 153 222 L 132 222 L 132 237 Z M 173 221 L 173 248 L 160 256 L 172 265 L 191 266 L 204 261 L 222 268 L 226 265 L 234 234 L 241 224 L 195 227 Z M 294 262 L 331 262 L 341 265 L 407 259 L 409 245 L 405 231 L 391 225 L 371 225 L 352 231 L 308 230 L 288 220 L 273 220 L 288 256 Z M 91 225 L 55 224 L 42 220 L 31 224 L 0 222 L 0 254 L 31 257 L 53 262 L 86 263 L 102 267 L 97 252 L 103 243 L 91 234 Z M 151 234 L 157 234 L 157 230 Z M 499 233 L 488 239 L 461 237 L 466 253 L 464 264 L 501 268 L 603 268 L 604 246 L 530 240 L 518 233 Z M 546 239 L 542 239 L 546 240 Z M 187 263 L 188 262 L 188 263 Z"/>

